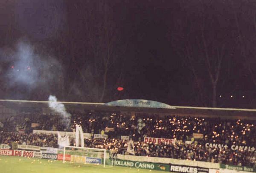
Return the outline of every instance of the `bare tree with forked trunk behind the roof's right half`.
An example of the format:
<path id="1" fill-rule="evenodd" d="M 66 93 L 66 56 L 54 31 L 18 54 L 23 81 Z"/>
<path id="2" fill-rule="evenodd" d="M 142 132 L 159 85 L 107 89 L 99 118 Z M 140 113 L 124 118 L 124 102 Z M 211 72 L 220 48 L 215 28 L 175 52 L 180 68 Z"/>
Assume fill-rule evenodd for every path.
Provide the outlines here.
<path id="1" fill-rule="evenodd" d="M 197 12 L 192 14 L 185 9 L 182 22 L 177 21 L 176 26 L 172 26 L 175 32 L 170 33 L 171 44 L 194 76 L 200 104 L 216 107 L 220 78 L 227 77 L 223 69 L 229 69 L 234 49 L 233 35 L 232 32 L 226 34 L 229 28 L 215 29 L 225 22 L 221 12 L 210 15 L 209 11 L 218 10 L 216 7 L 211 3 L 197 5 Z"/>

